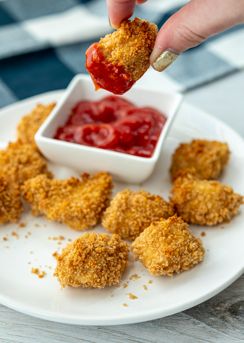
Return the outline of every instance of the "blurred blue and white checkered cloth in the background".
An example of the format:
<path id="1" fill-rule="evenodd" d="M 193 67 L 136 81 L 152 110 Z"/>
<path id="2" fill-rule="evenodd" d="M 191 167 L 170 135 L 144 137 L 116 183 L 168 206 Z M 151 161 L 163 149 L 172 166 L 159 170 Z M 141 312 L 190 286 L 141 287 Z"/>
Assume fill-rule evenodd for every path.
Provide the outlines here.
<path id="1" fill-rule="evenodd" d="M 134 16 L 159 26 L 186 0 L 149 0 Z M 65 88 L 86 73 L 85 51 L 111 33 L 106 0 L 0 0 L 0 107 Z M 230 54 L 233 51 L 233 55 Z M 244 67 L 244 25 L 182 52 L 164 72 L 138 83 L 187 91 Z"/>

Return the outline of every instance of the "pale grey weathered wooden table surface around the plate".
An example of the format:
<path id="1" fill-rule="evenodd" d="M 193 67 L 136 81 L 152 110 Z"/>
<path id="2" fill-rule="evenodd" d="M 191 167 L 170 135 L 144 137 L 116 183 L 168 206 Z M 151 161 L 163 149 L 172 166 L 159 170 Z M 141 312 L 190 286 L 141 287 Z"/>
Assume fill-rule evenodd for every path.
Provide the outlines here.
<path id="1" fill-rule="evenodd" d="M 244 137 L 244 72 L 185 96 Z M 0 305 L 1 343 L 244 343 L 244 274 L 215 297 L 176 315 L 117 326 L 76 326 L 30 317 Z"/>

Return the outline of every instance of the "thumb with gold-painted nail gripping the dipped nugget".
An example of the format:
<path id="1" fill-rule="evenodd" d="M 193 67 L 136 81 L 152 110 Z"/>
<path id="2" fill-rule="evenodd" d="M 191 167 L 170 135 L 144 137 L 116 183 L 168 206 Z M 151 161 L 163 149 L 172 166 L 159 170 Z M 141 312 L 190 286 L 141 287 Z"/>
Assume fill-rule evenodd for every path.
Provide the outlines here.
<path id="1" fill-rule="evenodd" d="M 150 63 L 155 70 L 163 71 L 181 51 L 243 22 L 243 0 L 191 0 L 161 27 Z"/>

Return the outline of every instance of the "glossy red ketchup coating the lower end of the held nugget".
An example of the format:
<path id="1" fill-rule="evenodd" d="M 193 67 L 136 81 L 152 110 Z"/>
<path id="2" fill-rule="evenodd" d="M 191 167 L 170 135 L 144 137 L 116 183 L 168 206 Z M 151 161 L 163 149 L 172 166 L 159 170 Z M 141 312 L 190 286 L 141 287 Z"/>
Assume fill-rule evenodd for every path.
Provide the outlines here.
<path id="1" fill-rule="evenodd" d="M 131 75 L 123 70 L 122 66 L 114 65 L 104 59 L 99 50 L 99 43 L 93 43 L 85 53 L 86 70 L 90 73 L 96 91 L 106 89 L 113 94 L 124 94 L 135 83 Z"/>

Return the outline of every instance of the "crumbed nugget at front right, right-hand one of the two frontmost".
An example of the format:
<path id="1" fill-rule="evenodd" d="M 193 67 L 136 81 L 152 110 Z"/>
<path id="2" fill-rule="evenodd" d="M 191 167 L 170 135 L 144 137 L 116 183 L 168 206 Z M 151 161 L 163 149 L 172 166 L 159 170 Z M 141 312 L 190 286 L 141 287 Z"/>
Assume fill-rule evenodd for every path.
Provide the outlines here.
<path id="1" fill-rule="evenodd" d="M 181 217 L 152 222 L 132 243 L 134 258 L 139 259 L 151 275 L 173 275 L 202 261 L 205 253 L 200 238 L 188 229 Z"/>

